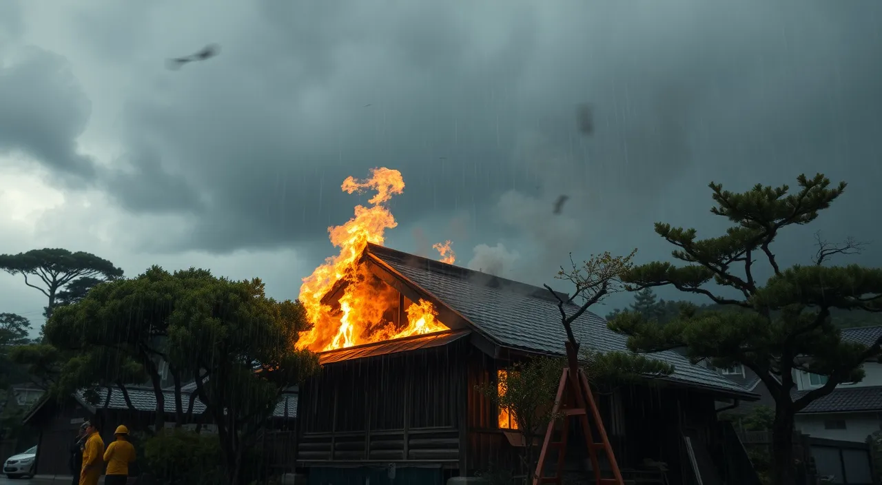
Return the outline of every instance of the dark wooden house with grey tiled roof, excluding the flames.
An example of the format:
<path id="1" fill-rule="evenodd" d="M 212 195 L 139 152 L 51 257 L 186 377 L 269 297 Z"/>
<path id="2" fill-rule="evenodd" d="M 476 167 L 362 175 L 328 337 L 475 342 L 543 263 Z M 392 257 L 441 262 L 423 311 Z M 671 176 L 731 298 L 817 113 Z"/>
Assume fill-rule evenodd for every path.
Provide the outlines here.
<path id="1" fill-rule="evenodd" d="M 428 300 L 450 330 L 320 354 L 322 371 L 300 390 L 295 444 L 277 466 L 317 484 L 427 485 L 515 468 L 519 433 L 475 385 L 512 362 L 564 354 L 554 295 L 377 245 L 362 261 L 400 294 L 397 311 Z M 573 330 L 583 346 L 625 350 L 625 337 L 589 312 Z M 675 352 L 653 356 L 676 372 L 597 396 L 618 464 L 626 478 L 650 459 L 667 464 L 669 483 L 691 483 L 697 470 L 714 483 L 727 473 L 714 401 L 757 396 Z M 573 472 L 585 473 L 586 456 L 570 447 Z"/>

